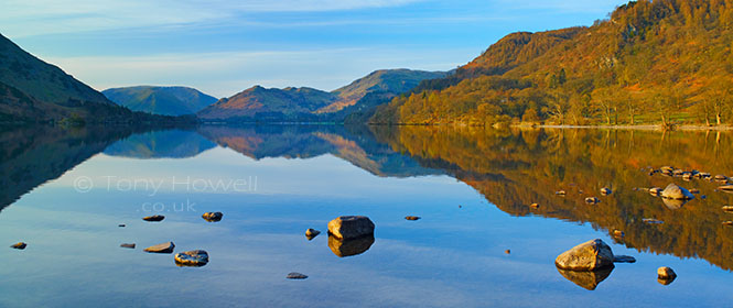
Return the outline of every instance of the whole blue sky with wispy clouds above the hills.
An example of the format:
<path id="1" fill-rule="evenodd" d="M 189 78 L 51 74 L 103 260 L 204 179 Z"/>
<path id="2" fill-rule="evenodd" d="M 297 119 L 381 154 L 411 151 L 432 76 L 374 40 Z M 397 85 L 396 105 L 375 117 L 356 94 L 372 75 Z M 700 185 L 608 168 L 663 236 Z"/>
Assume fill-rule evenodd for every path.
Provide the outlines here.
<path id="1" fill-rule="evenodd" d="M 619 0 L 0 0 L 0 33 L 97 90 L 333 90 L 449 70 L 517 31 L 590 25 Z"/>

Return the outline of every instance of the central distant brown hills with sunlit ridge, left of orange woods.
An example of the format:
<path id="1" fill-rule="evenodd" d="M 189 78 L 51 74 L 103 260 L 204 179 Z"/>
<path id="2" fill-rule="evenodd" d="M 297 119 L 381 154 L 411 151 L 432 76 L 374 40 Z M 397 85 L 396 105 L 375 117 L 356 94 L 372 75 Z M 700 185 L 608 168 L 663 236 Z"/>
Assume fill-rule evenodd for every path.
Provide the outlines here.
<path id="1" fill-rule="evenodd" d="M 225 121 L 343 121 L 349 113 L 389 101 L 421 80 L 442 72 L 377 70 L 348 86 L 326 92 L 312 88 L 266 89 L 255 86 L 197 112 L 205 120 Z"/>

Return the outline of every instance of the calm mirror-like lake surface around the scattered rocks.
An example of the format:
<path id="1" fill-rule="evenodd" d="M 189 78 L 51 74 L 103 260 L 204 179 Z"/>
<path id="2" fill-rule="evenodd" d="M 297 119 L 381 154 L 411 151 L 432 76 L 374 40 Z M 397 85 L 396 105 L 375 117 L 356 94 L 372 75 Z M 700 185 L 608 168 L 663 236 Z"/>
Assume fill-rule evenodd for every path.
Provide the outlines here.
<path id="1" fill-rule="evenodd" d="M 732 136 L 341 125 L 4 130 L 0 306 L 725 307 L 733 228 L 722 222 L 733 213 L 721 208 L 733 206 L 733 194 L 715 180 L 651 170 L 733 176 Z M 675 204 L 647 191 L 670 183 L 700 193 Z M 613 193 L 601 195 L 604 187 Z M 202 219 L 209 211 L 223 220 Z M 155 213 L 165 219 L 141 219 Z M 369 217 L 374 239 L 330 239 L 328 221 L 347 215 Z M 309 228 L 322 233 L 309 240 Z M 603 273 L 556 267 L 560 253 L 593 239 L 637 262 Z M 28 248 L 9 248 L 19 241 Z M 173 254 L 142 251 L 168 241 L 175 252 L 207 251 L 208 264 L 176 266 Z M 660 266 L 677 279 L 660 284 Z M 309 277 L 287 279 L 291 272 Z"/>

